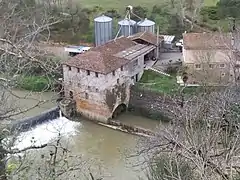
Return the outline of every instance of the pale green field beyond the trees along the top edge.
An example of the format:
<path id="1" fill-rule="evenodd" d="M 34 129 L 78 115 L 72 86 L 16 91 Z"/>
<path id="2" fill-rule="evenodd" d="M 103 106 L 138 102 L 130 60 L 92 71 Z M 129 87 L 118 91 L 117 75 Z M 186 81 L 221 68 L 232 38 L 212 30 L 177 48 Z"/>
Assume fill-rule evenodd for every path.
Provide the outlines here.
<path id="1" fill-rule="evenodd" d="M 76 0 L 77 1 L 77 0 Z M 154 5 L 161 4 L 166 0 L 81 0 L 81 4 L 84 7 L 92 8 L 94 6 L 100 6 L 103 9 L 117 9 L 123 11 L 128 5 L 143 6 L 151 9 Z M 206 6 L 214 6 L 218 0 L 204 0 Z"/>

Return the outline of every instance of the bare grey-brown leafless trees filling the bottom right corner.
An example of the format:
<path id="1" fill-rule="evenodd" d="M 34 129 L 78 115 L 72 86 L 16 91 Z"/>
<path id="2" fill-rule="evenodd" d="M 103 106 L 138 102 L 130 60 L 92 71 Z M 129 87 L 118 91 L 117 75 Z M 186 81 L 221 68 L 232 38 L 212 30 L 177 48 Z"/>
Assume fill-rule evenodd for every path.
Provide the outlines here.
<path id="1" fill-rule="evenodd" d="M 169 154 L 173 162 L 181 158 L 197 179 L 233 179 L 240 168 L 238 97 L 237 87 L 191 97 L 172 109 L 172 125 L 147 139 L 141 153 Z"/>

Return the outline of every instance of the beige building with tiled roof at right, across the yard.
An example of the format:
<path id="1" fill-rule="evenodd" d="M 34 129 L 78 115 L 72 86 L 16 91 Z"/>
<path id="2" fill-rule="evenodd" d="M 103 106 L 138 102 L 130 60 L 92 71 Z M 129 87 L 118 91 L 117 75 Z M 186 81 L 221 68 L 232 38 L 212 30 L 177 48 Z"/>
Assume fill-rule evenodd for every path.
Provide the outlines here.
<path id="1" fill-rule="evenodd" d="M 231 34 L 183 34 L 183 66 L 188 84 L 228 85 L 236 79 L 235 65 Z"/>

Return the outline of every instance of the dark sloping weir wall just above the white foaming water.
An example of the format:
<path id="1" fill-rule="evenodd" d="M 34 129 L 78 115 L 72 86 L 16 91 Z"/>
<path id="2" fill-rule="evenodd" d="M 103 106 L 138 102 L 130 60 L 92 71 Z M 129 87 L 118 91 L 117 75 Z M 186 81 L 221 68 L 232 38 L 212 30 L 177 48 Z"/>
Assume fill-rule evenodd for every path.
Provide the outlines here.
<path id="1" fill-rule="evenodd" d="M 42 112 L 41 114 L 33 117 L 27 117 L 22 120 L 16 120 L 10 125 L 11 132 L 18 131 L 24 132 L 35 127 L 36 125 L 42 124 L 44 122 L 58 118 L 59 107 L 54 107 L 47 111 Z"/>

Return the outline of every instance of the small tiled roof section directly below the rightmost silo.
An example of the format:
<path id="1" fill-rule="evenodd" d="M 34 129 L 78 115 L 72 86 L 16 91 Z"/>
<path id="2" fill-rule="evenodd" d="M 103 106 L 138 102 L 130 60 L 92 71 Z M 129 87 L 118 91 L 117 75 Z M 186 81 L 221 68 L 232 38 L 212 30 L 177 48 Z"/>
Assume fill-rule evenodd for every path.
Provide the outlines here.
<path id="1" fill-rule="evenodd" d="M 139 32 L 130 37 L 132 40 L 141 39 L 152 45 L 157 45 L 157 36 L 151 32 Z M 162 36 L 159 36 L 159 43 L 163 40 Z"/>

